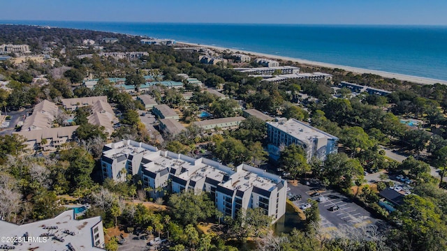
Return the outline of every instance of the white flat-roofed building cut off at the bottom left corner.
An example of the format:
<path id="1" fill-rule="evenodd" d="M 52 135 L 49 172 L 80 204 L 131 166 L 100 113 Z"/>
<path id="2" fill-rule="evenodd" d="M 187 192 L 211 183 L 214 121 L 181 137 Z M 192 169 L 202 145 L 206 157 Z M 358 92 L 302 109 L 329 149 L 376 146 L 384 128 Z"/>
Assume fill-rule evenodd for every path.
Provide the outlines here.
<path id="1" fill-rule="evenodd" d="M 64 211 L 47 220 L 24 225 L 0 220 L 0 233 L 16 241 L 1 243 L 3 250 L 104 250 L 101 216 L 75 219 L 74 210 Z M 7 246 L 7 247 L 5 247 Z"/>

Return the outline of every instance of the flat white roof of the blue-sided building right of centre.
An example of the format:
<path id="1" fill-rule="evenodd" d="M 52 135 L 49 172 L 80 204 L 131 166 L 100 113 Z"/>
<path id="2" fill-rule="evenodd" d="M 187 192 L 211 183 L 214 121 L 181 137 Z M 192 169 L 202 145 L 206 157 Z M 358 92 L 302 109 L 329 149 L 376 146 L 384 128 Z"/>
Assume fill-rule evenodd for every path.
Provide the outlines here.
<path id="1" fill-rule="evenodd" d="M 309 126 L 296 119 L 289 119 L 288 121 L 272 121 L 266 122 L 274 128 L 292 135 L 293 137 L 299 139 L 301 142 L 309 143 L 314 138 L 328 138 L 328 139 L 338 139 L 334 135 L 330 135 L 328 132 L 323 132 L 318 130 L 313 126 Z"/>

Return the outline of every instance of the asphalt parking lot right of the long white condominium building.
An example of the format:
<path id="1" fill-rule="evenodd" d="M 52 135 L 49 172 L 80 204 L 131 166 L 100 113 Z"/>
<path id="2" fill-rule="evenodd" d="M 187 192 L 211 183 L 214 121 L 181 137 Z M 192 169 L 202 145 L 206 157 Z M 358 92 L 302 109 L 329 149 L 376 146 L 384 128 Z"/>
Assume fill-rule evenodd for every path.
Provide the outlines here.
<path id="1" fill-rule="evenodd" d="M 298 186 L 288 185 L 293 195 L 301 195 L 302 199 L 293 201 L 297 206 L 307 204 L 307 199 L 311 198 L 318 201 L 319 197 L 325 197 L 324 201 L 318 202 L 318 209 L 321 215 L 321 229 L 335 229 L 342 225 L 360 227 L 381 223 L 380 220 L 373 217 L 371 213 L 355 204 L 351 199 L 334 190 L 325 190 L 317 184 Z M 320 195 L 312 196 L 315 192 Z M 290 197 L 290 195 L 289 195 Z M 338 206 L 337 210 L 331 211 L 332 206 Z"/>

